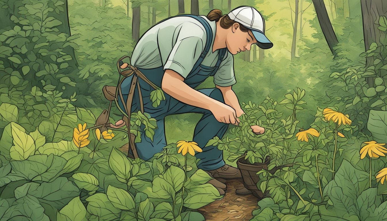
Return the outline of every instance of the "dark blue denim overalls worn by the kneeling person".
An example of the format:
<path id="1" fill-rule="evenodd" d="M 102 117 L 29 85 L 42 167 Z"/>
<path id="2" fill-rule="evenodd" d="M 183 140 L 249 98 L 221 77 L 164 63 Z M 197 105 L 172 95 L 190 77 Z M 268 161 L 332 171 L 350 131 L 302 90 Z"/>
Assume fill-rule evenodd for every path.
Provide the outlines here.
<path id="1" fill-rule="evenodd" d="M 207 33 L 207 42 L 205 45 L 205 49 L 203 53 L 200 55 L 197 62 L 195 63 L 191 72 L 184 80 L 184 82 L 188 86 L 195 88 L 199 84 L 204 82 L 205 79 L 207 79 L 207 77 L 214 76 L 216 71 L 219 69 L 219 65 L 223 60 L 227 49 L 226 48 L 219 49 L 219 58 L 216 62 L 215 67 L 208 67 L 208 66 L 202 65 L 201 63 L 204 57 L 207 55 L 208 51 L 211 50 L 210 47 L 212 42 L 212 29 L 210 25 L 208 24 L 207 21 L 205 21 L 205 19 L 196 15 L 176 15 L 176 16 L 189 16 L 197 19 L 205 27 L 205 31 Z M 158 87 L 161 88 L 161 81 L 164 75 L 163 67 L 157 67 L 154 69 L 140 69 L 140 68 L 137 68 L 137 69 L 140 70 L 149 79 L 149 81 L 153 82 L 154 84 L 156 84 Z M 130 82 L 132 78 L 133 78 L 133 75 L 127 77 L 121 84 L 123 99 L 125 102 L 128 98 L 128 91 L 130 88 Z M 200 159 L 200 161 L 197 163 L 197 167 L 202 170 L 216 170 L 217 168 L 220 168 L 225 164 L 223 161 L 223 151 L 217 149 L 216 146 L 208 146 L 208 147 L 204 147 L 204 146 L 214 136 L 222 138 L 223 135 L 226 133 L 228 124 L 218 122 L 215 119 L 214 115 L 212 115 L 211 111 L 203 108 L 187 105 L 185 103 L 178 101 L 177 99 L 171 97 L 166 93 L 164 93 L 165 100 L 161 101 L 160 105 L 154 108 L 152 106 L 152 101 L 150 99 L 150 93 L 154 89 L 149 84 L 147 84 L 144 80 L 139 78 L 138 81 L 140 84 L 142 99 L 144 102 L 144 112 L 149 113 L 152 118 L 155 118 L 157 120 L 157 127 L 158 127 L 155 129 L 153 142 L 151 141 L 151 139 L 146 137 L 144 133 L 141 133 L 141 142 L 136 143 L 136 147 L 137 147 L 136 149 L 137 149 L 139 158 L 148 160 L 152 158 L 152 156 L 155 153 L 161 152 L 163 150 L 163 147 L 166 146 L 166 139 L 165 139 L 165 132 L 164 132 L 165 116 L 179 114 L 179 113 L 203 113 L 202 118 L 199 120 L 199 122 L 195 127 L 194 137 L 192 139 L 193 141 L 197 142 L 200 148 L 203 149 L 203 152 L 195 154 L 195 156 L 198 159 Z M 200 91 L 201 93 L 224 103 L 223 95 L 218 88 L 205 88 L 205 89 L 199 89 L 197 91 Z M 125 110 L 121 102 L 121 99 L 118 99 L 118 104 L 122 110 Z M 139 104 L 139 95 L 136 87 L 134 91 L 134 98 L 133 98 L 132 111 L 131 111 L 132 113 L 138 111 L 139 108 L 137 107 L 137 104 Z M 144 129 L 144 126 L 142 125 L 141 130 L 143 129 Z M 129 151 L 130 153 L 132 153 L 131 150 Z"/>

